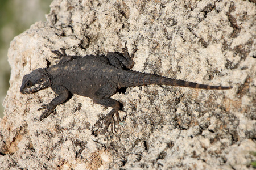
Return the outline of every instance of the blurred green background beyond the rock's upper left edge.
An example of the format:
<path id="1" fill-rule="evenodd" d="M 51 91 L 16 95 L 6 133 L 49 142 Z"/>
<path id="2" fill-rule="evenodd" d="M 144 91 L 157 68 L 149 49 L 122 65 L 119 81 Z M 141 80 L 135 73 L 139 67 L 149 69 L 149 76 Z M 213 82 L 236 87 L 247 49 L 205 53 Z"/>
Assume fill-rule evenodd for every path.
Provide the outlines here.
<path id="1" fill-rule="evenodd" d="M 11 40 L 37 21 L 45 21 L 52 0 L 0 0 L 0 117 L 9 88 L 10 65 L 7 52 Z"/>

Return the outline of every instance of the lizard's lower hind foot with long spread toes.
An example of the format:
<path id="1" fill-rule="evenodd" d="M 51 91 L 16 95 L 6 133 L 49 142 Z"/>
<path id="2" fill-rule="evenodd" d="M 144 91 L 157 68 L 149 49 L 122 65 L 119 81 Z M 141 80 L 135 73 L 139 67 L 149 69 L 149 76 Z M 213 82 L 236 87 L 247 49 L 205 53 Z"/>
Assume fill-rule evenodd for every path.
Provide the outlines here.
<path id="1" fill-rule="evenodd" d="M 114 120 L 114 114 L 117 117 L 117 121 Z M 104 121 L 105 128 L 102 130 L 102 132 L 105 133 L 105 131 L 109 128 L 109 125 L 110 125 L 111 133 L 113 133 L 113 130 L 115 133 L 117 133 L 116 127 L 115 127 L 116 122 L 119 124 L 119 122 L 121 122 L 121 118 L 119 117 L 118 111 L 113 112 L 112 110 L 105 117 L 105 121 Z"/>

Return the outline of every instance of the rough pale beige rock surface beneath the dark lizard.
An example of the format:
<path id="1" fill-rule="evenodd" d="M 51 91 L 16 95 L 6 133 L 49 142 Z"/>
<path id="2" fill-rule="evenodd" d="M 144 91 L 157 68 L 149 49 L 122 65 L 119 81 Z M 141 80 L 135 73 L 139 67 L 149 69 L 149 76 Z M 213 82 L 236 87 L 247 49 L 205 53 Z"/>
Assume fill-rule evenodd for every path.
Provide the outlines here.
<path id="1" fill-rule="evenodd" d="M 0 122 L 2 169 L 252 169 L 256 158 L 253 1 L 61 1 L 15 37 Z M 19 92 L 22 78 L 68 54 L 137 47 L 133 70 L 232 90 L 127 88 L 118 134 L 100 134 L 111 108 L 73 95 L 43 121 L 55 94 Z"/>

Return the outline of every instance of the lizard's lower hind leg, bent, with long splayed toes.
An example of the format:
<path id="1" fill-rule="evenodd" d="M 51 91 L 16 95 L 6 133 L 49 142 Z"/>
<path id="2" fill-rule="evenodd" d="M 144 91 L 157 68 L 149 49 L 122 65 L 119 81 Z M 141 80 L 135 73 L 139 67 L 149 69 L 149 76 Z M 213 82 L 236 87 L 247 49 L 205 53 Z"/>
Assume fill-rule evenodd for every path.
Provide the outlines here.
<path id="1" fill-rule="evenodd" d="M 103 129 L 103 133 L 105 133 L 105 131 L 109 128 L 109 125 L 111 127 L 111 132 L 113 133 L 114 130 L 115 133 L 117 133 L 117 131 L 115 130 L 115 124 L 116 122 L 121 122 L 118 113 L 120 104 L 117 100 L 110 98 L 110 96 L 114 95 L 116 91 L 117 86 L 115 86 L 114 83 L 108 83 L 102 86 L 93 97 L 94 103 L 105 105 L 106 107 L 112 107 L 112 110 L 105 116 L 105 128 Z M 114 114 L 116 117 L 116 121 L 114 120 Z"/>

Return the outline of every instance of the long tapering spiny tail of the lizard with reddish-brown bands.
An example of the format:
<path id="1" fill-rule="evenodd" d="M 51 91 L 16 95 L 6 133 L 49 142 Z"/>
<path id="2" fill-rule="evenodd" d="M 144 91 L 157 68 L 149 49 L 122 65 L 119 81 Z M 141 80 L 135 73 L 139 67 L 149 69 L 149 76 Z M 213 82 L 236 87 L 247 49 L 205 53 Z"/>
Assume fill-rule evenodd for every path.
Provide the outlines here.
<path id="1" fill-rule="evenodd" d="M 201 89 L 217 89 L 217 90 L 225 90 L 225 89 L 232 88 L 232 86 L 209 86 L 205 84 L 186 82 L 183 80 L 176 80 L 176 79 L 166 78 L 159 75 L 144 74 L 144 73 L 139 73 L 135 71 L 127 71 L 125 74 L 125 79 L 121 81 L 122 87 L 143 86 L 143 85 L 150 85 L 150 84 L 191 87 L 191 88 L 201 88 Z"/>

